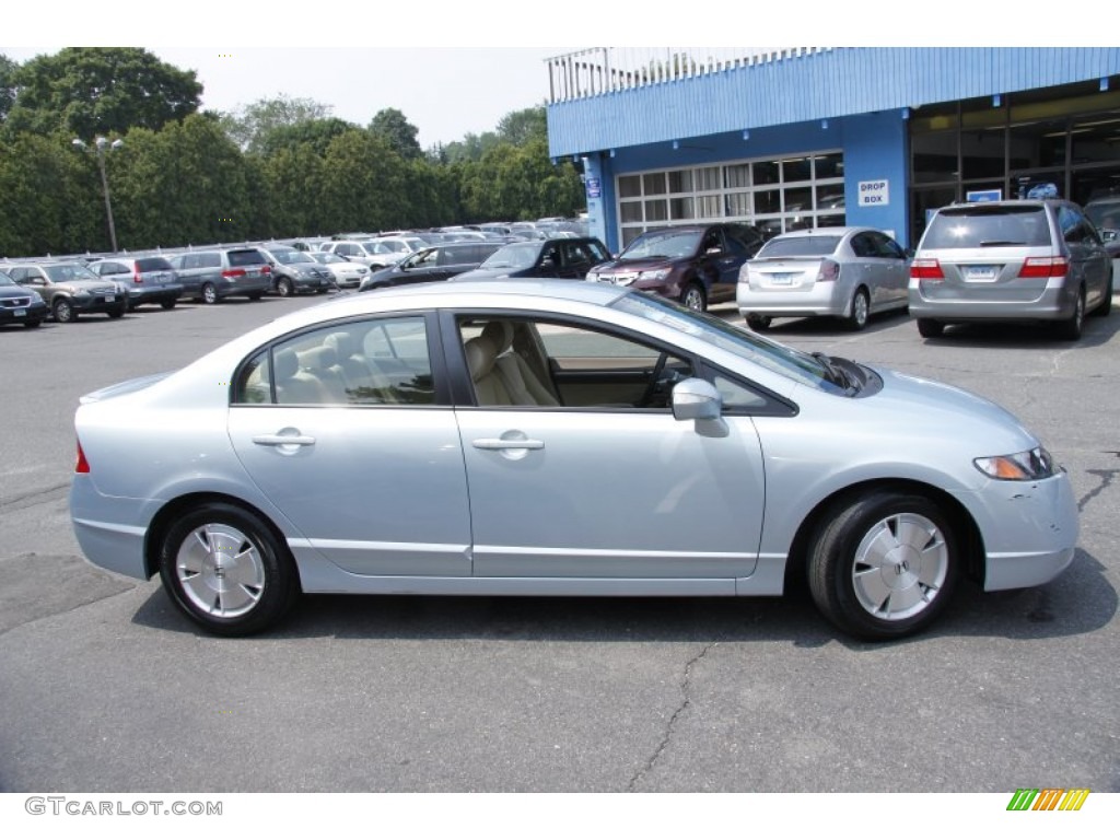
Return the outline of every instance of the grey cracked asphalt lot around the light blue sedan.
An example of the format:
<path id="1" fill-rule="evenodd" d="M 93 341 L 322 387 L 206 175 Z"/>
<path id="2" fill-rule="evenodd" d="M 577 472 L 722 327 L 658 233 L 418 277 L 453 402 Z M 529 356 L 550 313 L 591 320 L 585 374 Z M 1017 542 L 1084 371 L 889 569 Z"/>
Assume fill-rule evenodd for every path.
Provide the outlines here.
<path id="1" fill-rule="evenodd" d="M 316 301 L 0 329 L 0 791 L 1120 791 L 1120 315 L 1073 344 L 1035 327 L 926 342 L 905 315 L 771 329 L 989 396 L 1070 472 L 1072 567 L 962 587 L 916 638 L 851 642 L 802 591 L 318 596 L 276 633 L 211 637 L 158 579 L 81 559 L 73 412 Z"/>

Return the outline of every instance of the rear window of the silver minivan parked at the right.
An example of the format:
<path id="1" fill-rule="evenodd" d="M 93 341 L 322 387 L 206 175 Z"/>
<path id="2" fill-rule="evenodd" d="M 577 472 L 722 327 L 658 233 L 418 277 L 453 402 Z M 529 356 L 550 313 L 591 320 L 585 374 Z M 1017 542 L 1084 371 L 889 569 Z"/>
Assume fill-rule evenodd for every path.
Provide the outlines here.
<path id="1" fill-rule="evenodd" d="M 953 207 L 933 217 L 923 249 L 1046 246 L 1049 225 L 1043 207 Z"/>

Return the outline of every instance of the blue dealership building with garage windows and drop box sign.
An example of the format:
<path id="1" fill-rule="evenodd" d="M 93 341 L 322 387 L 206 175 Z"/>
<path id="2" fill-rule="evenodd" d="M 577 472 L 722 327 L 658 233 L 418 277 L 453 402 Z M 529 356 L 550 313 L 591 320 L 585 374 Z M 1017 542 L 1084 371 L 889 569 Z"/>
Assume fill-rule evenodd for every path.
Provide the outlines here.
<path id="1" fill-rule="evenodd" d="M 591 233 L 868 225 L 1054 185 L 1120 195 L 1120 47 L 586 49 L 547 62 L 549 149 Z"/>

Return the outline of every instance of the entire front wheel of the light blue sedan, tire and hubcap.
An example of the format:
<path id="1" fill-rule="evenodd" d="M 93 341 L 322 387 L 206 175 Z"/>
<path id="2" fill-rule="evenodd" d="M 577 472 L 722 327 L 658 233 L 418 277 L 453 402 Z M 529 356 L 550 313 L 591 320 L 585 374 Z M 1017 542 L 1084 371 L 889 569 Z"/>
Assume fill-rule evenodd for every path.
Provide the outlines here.
<path id="1" fill-rule="evenodd" d="M 899 638 L 949 604 L 962 558 L 952 520 L 925 496 L 877 491 L 823 519 L 810 549 L 818 608 L 857 638 Z"/>

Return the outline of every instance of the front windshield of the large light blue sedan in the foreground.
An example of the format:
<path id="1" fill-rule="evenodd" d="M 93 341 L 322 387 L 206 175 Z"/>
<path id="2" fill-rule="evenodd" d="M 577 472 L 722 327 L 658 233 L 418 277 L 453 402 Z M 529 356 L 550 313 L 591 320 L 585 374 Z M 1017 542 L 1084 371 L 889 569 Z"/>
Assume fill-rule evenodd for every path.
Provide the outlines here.
<path id="1" fill-rule="evenodd" d="M 740 329 L 715 315 L 697 312 L 675 301 L 643 292 L 623 295 L 610 306 L 678 329 L 803 385 L 829 393 L 843 393 L 842 388 L 830 381 L 828 368 L 810 354 Z"/>

